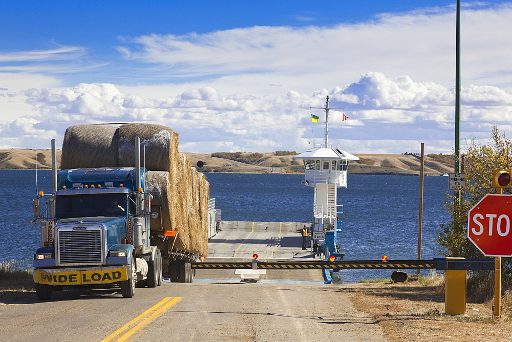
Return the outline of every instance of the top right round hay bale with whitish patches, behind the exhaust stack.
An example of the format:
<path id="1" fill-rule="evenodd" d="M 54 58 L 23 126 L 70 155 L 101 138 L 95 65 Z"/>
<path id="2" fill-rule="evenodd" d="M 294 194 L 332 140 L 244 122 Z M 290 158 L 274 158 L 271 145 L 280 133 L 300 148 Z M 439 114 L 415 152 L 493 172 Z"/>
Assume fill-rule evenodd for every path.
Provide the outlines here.
<path id="1" fill-rule="evenodd" d="M 170 172 L 178 159 L 178 134 L 162 125 L 125 123 L 117 137 L 118 166 L 135 166 L 135 137 L 140 138 L 141 166 Z"/>

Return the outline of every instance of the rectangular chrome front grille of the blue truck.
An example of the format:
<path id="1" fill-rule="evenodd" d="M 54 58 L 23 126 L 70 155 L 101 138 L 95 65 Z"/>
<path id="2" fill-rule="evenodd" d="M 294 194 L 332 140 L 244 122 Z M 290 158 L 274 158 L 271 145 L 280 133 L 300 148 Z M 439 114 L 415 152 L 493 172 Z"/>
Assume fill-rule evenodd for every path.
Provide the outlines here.
<path id="1" fill-rule="evenodd" d="M 59 265 L 102 263 L 101 230 L 59 230 Z"/>

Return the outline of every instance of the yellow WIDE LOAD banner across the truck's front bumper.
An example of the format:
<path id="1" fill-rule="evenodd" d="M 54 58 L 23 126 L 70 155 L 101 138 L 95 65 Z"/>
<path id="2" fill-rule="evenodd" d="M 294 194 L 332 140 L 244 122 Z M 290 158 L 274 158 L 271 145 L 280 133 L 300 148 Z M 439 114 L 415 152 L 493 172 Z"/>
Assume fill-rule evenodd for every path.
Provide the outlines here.
<path id="1" fill-rule="evenodd" d="M 49 285 L 87 285 L 115 283 L 128 280 L 125 267 L 101 269 L 35 270 L 34 281 Z"/>

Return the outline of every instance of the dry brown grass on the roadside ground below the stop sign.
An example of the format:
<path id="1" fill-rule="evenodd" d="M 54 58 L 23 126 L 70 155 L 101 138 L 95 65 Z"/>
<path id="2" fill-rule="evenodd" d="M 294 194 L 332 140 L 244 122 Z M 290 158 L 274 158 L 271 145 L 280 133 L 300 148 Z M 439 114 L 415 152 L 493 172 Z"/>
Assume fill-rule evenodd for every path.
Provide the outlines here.
<path id="1" fill-rule="evenodd" d="M 370 314 L 387 339 L 398 340 L 509 340 L 512 319 L 502 298 L 502 319 L 492 317 L 492 302 L 468 298 L 464 316 L 444 315 L 444 277 L 424 277 L 415 282 L 348 285 L 352 302 Z"/>

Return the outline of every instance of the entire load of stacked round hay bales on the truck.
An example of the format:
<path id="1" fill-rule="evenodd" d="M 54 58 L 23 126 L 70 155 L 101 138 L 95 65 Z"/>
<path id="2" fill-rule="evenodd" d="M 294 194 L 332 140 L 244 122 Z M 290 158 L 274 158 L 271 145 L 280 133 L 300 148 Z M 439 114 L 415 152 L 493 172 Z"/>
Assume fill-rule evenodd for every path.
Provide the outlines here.
<path id="1" fill-rule="evenodd" d="M 205 185 L 193 179 L 190 162 L 186 155 L 179 154 L 176 131 L 144 123 L 126 123 L 118 129 L 70 126 L 62 144 L 61 169 L 135 167 L 137 136 L 141 141 L 141 166 L 148 170 L 152 204 L 161 207 L 161 217 L 151 219 L 151 230 L 174 230 L 178 232 L 175 249 L 206 256 L 208 198 L 203 212 L 197 207 L 203 205 L 202 199 L 194 197 L 201 194 L 196 187 Z"/>

